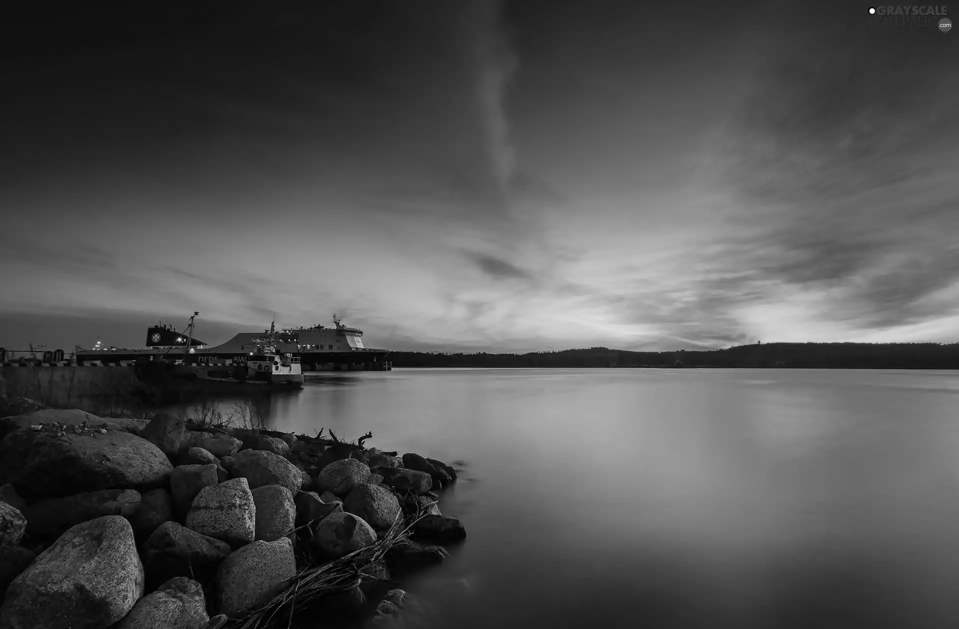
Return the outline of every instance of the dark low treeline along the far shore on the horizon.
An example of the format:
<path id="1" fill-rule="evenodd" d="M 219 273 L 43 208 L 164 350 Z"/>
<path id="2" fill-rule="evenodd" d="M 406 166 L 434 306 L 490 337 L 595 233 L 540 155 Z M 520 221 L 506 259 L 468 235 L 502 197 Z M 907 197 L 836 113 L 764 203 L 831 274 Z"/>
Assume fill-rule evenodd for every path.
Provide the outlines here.
<path id="1" fill-rule="evenodd" d="M 959 369 L 959 343 L 757 343 L 677 352 L 629 352 L 606 347 L 529 354 L 390 352 L 387 360 L 396 367 Z"/>

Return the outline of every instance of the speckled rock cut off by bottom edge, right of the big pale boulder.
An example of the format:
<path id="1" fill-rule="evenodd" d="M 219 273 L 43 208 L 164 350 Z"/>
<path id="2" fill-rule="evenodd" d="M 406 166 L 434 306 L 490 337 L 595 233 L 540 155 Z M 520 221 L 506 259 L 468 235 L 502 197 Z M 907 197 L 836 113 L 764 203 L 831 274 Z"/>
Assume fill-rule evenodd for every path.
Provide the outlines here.
<path id="1" fill-rule="evenodd" d="M 205 629 L 209 621 L 203 588 L 176 576 L 141 598 L 114 629 Z"/>

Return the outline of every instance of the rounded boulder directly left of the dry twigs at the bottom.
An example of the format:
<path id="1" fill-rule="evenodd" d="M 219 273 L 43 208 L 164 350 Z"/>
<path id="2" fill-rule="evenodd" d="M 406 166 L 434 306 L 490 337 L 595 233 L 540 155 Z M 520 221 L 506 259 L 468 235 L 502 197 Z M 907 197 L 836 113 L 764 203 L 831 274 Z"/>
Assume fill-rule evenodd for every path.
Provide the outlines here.
<path id="1" fill-rule="evenodd" d="M 278 594 L 296 574 L 290 539 L 258 540 L 236 550 L 217 572 L 220 613 L 239 616 Z"/>

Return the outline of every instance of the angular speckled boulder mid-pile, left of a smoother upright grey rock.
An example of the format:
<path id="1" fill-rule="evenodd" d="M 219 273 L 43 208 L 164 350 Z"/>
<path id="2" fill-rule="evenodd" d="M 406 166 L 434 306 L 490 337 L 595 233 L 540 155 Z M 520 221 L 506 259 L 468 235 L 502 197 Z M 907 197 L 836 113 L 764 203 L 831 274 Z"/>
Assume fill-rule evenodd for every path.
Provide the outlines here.
<path id="1" fill-rule="evenodd" d="M 246 478 L 200 489 L 187 513 L 186 525 L 233 547 L 252 542 L 256 535 L 256 505 Z"/>

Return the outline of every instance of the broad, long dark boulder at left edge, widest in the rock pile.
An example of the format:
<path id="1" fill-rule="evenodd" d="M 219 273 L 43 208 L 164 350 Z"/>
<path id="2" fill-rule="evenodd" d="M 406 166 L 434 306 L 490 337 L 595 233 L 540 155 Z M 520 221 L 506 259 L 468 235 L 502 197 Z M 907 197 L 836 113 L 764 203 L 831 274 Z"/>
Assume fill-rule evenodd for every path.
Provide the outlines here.
<path id="1" fill-rule="evenodd" d="M 28 502 L 100 489 L 153 489 L 165 485 L 173 469 L 163 451 L 125 431 L 15 431 L 0 441 L 0 479 Z"/>

